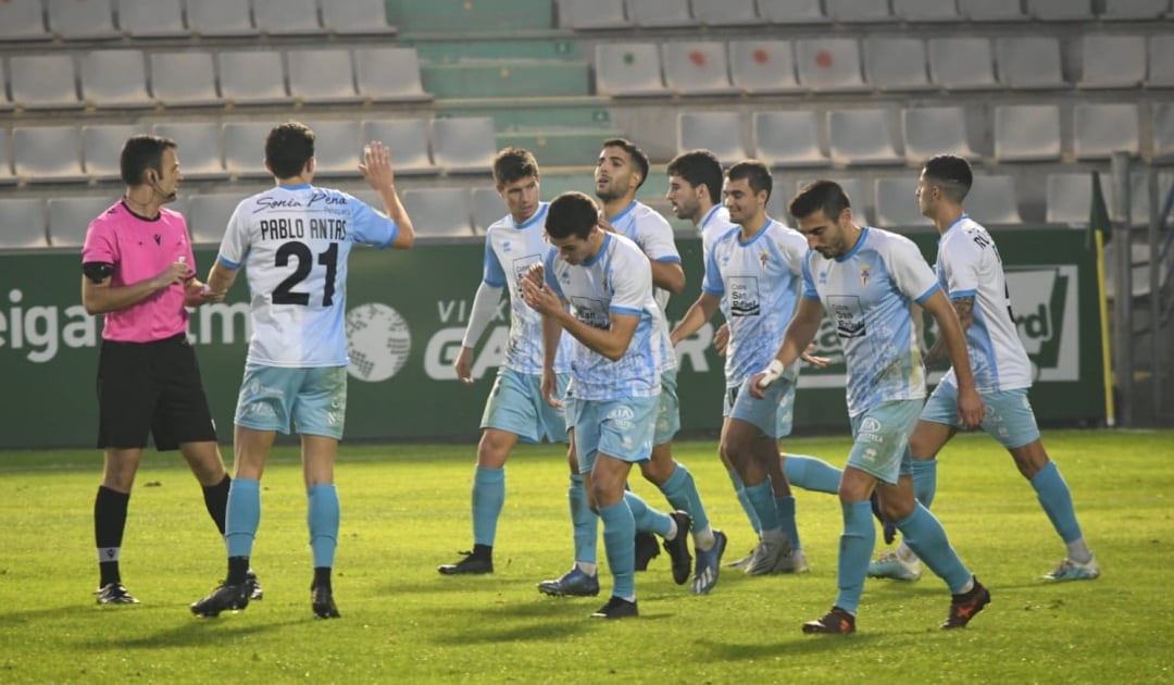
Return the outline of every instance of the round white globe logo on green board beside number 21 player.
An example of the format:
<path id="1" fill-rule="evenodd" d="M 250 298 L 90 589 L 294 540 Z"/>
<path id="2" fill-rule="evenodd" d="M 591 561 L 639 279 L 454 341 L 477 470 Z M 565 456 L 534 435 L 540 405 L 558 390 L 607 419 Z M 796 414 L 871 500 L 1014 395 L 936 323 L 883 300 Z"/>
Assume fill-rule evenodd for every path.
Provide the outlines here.
<path id="1" fill-rule="evenodd" d="M 412 333 L 398 311 L 372 302 L 346 314 L 346 352 L 352 378 L 377 383 L 391 378 L 407 362 Z"/>

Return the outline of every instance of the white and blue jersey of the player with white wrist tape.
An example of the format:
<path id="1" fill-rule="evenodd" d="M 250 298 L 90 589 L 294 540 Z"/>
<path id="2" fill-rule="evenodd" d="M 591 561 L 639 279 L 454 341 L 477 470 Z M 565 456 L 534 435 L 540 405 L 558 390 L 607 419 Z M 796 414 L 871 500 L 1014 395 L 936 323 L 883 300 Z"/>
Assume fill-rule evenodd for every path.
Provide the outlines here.
<path id="1" fill-rule="evenodd" d="M 925 397 L 925 369 L 910 311 L 938 290 L 913 241 L 864 227 L 845 255 L 815 250 L 803 262 L 803 297 L 818 300 L 844 348 L 848 414 Z"/>

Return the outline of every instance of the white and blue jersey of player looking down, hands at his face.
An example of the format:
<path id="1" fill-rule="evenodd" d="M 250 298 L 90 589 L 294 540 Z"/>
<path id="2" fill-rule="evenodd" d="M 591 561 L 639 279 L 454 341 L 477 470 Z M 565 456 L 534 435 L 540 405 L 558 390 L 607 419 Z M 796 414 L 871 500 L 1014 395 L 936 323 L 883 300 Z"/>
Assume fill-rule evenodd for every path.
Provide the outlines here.
<path id="1" fill-rule="evenodd" d="M 575 341 L 568 396 L 620 399 L 660 395 L 660 371 L 664 368 L 661 338 L 668 335 L 668 325 L 653 296 L 653 273 L 645 253 L 613 233 L 605 234 L 599 254 L 581 264 L 568 264 L 552 248 L 546 256 L 546 281 L 571 304 L 575 318 L 593 328 L 610 327 L 612 314 L 640 317 L 628 350 L 616 362 Z"/>

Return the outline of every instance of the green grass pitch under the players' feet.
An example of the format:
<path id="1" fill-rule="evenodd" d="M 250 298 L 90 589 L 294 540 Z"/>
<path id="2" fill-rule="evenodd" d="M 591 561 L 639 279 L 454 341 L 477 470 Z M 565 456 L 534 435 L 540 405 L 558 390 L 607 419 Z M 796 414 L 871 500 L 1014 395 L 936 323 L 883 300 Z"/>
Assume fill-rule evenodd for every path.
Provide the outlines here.
<path id="1" fill-rule="evenodd" d="M 695 597 L 668 559 L 636 576 L 641 616 L 599 622 L 599 598 L 549 598 L 534 584 L 571 563 L 561 448 L 519 448 L 507 465 L 497 572 L 441 577 L 468 549 L 473 445 L 344 445 L 335 570 L 340 620 L 310 612 L 311 562 L 297 452 L 279 449 L 262 481 L 254 550 L 265 598 L 197 619 L 188 604 L 224 573 L 224 548 L 177 456 L 139 471 L 122 573 L 142 602 L 97 606 L 96 450 L 0 455 L 0 683 L 416 681 L 1174 681 L 1174 431 L 1046 431 L 1104 570 L 1094 582 L 1040 583 L 1064 556 L 1030 485 L 985 436 L 942 455 L 933 511 L 992 604 L 970 627 L 939 631 L 949 593 L 922 580 L 869 580 L 853 636 L 804 636 L 836 595 L 842 528 L 835 497 L 797 491 L 811 573 L 748 578 L 724 570 Z M 753 533 L 711 441 L 681 442 L 728 558 Z M 842 465 L 846 437 L 784 449 Z M 225 449 L 225 454 L 230 450 Z M 633 488 L 664 509 L 663 497 Z M 878 536 L 879 537 L 879 536 Z M 877 551 L 882 544 L 878 540 Z M 602 540 L 600 542 L 602 557 Z"/>

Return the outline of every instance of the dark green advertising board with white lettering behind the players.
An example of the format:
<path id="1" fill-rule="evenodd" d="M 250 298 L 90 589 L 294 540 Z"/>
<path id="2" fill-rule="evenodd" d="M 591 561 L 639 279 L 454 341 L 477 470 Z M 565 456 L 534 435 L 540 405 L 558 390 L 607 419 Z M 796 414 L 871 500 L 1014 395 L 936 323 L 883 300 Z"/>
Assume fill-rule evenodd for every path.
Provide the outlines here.
<path id="1" fill-rule="evenodd" d="M 927 260 L 936 234 L 915 235 Z M 1100 329 L 1094 257 L 1082 233 L 1017 228 L 996 234 L 1012 310 L 1038 371 L 1031 392 L 1041 422 L 1084 422 L 1104 416 Z M 679 320 L 701 283 L 701 241 L 679 239 L 686 291 L 673 298 Z M 346 435 L 359 439 L 472 439 L 507 341 L 507 308 L 477 347 L 474 376 L 456 380 L 473 294 L 480 282 L 479 243 L 418 243 L 404 253 L 357 249 L 346 290 L 351 341 Z M 197 251 L 207 273 L 215 251 Z M 80 258 L 74 251 L 0 255 L 0 374 L 6 391 L 0 448 L 94 444 L 97 409 L 94 374 L 99 318 L 81 307 Z M 193 313 L 196 347 L 220 436 L 231 436 L 232 409 L 248 343 L 244 282 L 221 304 Z M 721 425 L 723 360 L 709 344 L 715 324 L 677 348 L 682 425 Z M 927 331 L 932 336 L 932 330 Z M 796 402 L 798 431 L 845 431 L 843 358 L 832 328 L 817 336 L 823 370 L 804 369 Z M 931 375 L 936 380 L 939 374 Z"/>

